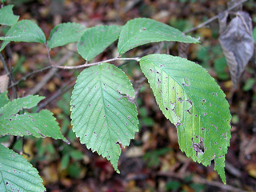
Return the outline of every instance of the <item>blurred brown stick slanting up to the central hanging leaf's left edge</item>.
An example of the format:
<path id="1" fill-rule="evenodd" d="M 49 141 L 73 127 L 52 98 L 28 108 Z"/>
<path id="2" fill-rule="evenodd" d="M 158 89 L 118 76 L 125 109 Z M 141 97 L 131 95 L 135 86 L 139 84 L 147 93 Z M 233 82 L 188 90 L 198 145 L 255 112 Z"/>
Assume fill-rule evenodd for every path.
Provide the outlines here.
<path id="1" fill-rule="evenodd" d="M 46 99 L 45 102 L 42 102 L 37 109 L 37 112 L 39 110 L 42 110 L 45 106 L 47 106 L 50 102 L 54 101 L 55 98 L 58 98 L 60 95 L 66 93 L 66 91 L 70 90 L 74 86 L 74 78 L 71 78 L 70 81 L 64 83 L 60 89 L 58 89 L 58 92 L 56 92 L 54 95 L 52 95 L 50 98 Z M 70 82 L 72 82 L 70 84 Z M 69 85 L 70 84 L 70 85 Z M 69 86 L 68 86 L 69 85 Z"/>

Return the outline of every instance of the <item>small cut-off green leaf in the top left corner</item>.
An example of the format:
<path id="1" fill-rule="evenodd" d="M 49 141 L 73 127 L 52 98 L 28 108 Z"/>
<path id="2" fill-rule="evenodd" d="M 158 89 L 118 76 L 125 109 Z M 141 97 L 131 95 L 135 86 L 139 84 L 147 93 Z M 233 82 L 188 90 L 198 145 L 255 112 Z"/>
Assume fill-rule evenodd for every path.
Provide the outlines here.
<path id="1" fill-rule="evenodd" d="M 12 26 L 18 21 L 19 16 L 14 15 L 13 7 L 10 5 L 0 9 L 0 25 Z"/>

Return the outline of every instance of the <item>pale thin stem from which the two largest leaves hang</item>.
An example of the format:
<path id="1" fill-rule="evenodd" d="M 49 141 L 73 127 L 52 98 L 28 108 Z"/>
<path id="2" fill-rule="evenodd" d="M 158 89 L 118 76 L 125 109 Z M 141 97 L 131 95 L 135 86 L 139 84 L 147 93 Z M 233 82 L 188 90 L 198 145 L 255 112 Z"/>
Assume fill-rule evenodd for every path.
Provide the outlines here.
<path id="1" fill-rule="evenodd" d="M 117 61 L 117 60 L 135 60 L 135 61 L 139 61 L 140 58 L 110 58 L 110 59 L 106 59 L 102 62 L 113 62 L 113 61 Z M 63 69 L 63 70 L 77 70 L 77 69 L 80 69 L 80 68 L 83 68 L 83 67 L 87 67 L 87 66 L 97 66 L 98 64 L 101 64 L 102 62 L 92 62 L 92 63 L 85 63 L 85 64 L 82 64 L 81 66 L 54 66 L 55 68 L 58 68 L 58 69 Z"/>

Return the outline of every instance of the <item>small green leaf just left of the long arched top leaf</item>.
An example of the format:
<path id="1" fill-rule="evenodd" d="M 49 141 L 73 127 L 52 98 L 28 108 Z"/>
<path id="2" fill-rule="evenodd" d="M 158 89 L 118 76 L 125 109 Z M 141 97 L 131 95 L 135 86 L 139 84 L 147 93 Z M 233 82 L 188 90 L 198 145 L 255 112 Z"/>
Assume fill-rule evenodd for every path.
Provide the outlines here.
<path id="1" fill-rule="evenodd" d="M 121 26 L 95 26 L 86 30 L 78 42 L 78 53 L 90 61 L 118 39 L 121 29 Z"/>

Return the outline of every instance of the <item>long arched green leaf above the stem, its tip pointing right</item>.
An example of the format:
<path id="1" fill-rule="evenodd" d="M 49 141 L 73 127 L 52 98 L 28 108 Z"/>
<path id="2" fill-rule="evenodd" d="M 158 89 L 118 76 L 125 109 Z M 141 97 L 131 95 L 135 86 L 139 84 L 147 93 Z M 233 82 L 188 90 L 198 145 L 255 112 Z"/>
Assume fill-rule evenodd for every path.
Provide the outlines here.
<path id="1" fill-rule="evenodd" d="M 146 43 L 163 41 L 199 42 L 197 39 L 186 36 L 180 30 L 162 22 L 150 18 L 134 18 L 122 27 L 118 40 L 118 54 L 124 54 L 128 50 Z"/>

